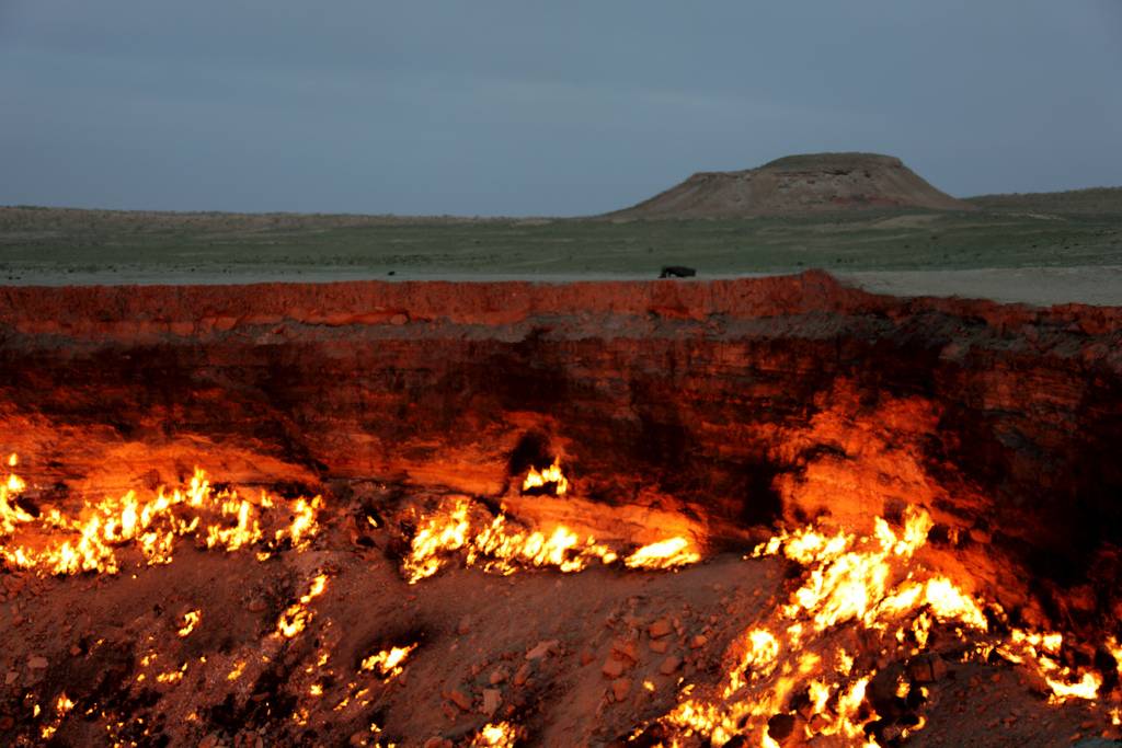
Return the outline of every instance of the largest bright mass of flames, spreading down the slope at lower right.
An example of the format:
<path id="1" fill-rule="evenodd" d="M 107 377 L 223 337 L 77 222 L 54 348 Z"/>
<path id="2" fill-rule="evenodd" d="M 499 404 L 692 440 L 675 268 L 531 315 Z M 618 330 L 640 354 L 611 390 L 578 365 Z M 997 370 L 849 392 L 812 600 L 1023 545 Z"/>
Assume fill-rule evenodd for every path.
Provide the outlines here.
<path id="1" fill-rule="evenodd" d="M 951 580 L 919 569 L 914 555 L 930 527 L 930 517 L 912 508 L 901 530 L 876 518 L 866 537 L 826 534 L 811 526 L 760 546 L 756 556 L 782 556 L 803 565 L 799 585 L 787 604 L 732 644 L 721 685 L 698 695 L 687 686 L 662 723 L 716 745 L 746 735 L 774 746 L 769 720 L 790 714 L 806 739 L 837 736 L 847 744 L 876 745 L 865 728 L 877 718 L 866 700 L 877 655 L 888 652 L 888 645 L 902 648 L 904 657 L 921 655 L 936 627 L 953 631 L 960 641 L 969 635 L 971 641 L 981 643 L 967 649 L 974 656 L 996 647 L 1008 659 L 1037 669 L 1054 700 L 1095 698 L 1097 674 L 1076 674 L 1059 665 L 1061 635 L 1012 629 L 1000 638 L 990 625 L 1000 608 L 984 606 Z M 918 686 L 903 678 L 898 695 L 911 689 Z M 922 726 L 920 717 L 896 735 L 907 737 Z"/>

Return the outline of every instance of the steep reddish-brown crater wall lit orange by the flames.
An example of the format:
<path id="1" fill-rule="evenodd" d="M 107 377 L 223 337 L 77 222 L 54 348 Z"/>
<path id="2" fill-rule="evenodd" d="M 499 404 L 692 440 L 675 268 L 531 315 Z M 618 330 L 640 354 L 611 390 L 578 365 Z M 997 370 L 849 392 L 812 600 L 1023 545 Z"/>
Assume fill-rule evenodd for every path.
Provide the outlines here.
<path id="1" fill-rule="evenodd" d="M 920 507 L 930 565 L 1091 640 L 1122 634 L 1119 444 L 1116 308 L 817 273 L 0 289 L 0 447 L 31 505 L 204 465 L 292 496 L 505 497 L 637 545 L 674 526 L 710 556 Z M 571 501 L 518 497 L 553 459 Z"/>

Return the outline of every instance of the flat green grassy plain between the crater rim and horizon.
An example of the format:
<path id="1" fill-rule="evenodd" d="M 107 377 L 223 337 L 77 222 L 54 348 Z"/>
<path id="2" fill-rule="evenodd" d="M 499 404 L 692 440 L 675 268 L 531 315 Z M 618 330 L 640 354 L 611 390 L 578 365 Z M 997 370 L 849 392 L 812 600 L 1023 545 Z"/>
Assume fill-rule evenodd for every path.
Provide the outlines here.
<path id="1" fill-rule="evenodd" d="M 699 277 L 1122 266 L 1122 190 L 978 210 L 613 222 L 0 207 L 0 281 Z"/>

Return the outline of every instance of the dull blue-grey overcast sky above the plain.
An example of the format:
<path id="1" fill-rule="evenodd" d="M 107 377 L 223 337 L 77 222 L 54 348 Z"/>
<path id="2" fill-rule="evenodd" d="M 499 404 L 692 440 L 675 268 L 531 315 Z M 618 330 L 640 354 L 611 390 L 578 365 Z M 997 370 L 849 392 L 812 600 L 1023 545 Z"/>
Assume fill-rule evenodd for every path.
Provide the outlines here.
<path id="1" fill-rule="evenodd" d="M 1122 184 L 1122 0 L 0 0 L 0 204 L 571 215 L 873 150 Z"/>

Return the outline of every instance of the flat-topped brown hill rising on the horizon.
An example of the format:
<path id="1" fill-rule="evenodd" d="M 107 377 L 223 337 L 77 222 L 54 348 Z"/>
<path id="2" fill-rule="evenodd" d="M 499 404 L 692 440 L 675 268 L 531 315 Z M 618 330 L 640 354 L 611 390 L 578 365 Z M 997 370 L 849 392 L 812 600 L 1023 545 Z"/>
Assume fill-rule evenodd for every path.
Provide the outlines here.
<path id="1" fill-rule="evenodd" d="M 799 215 L 873 207 L 968 211 L 893 156 L 807 154 L 742 172 L 699 172 L 609 218 L 682 219 Z"/>

